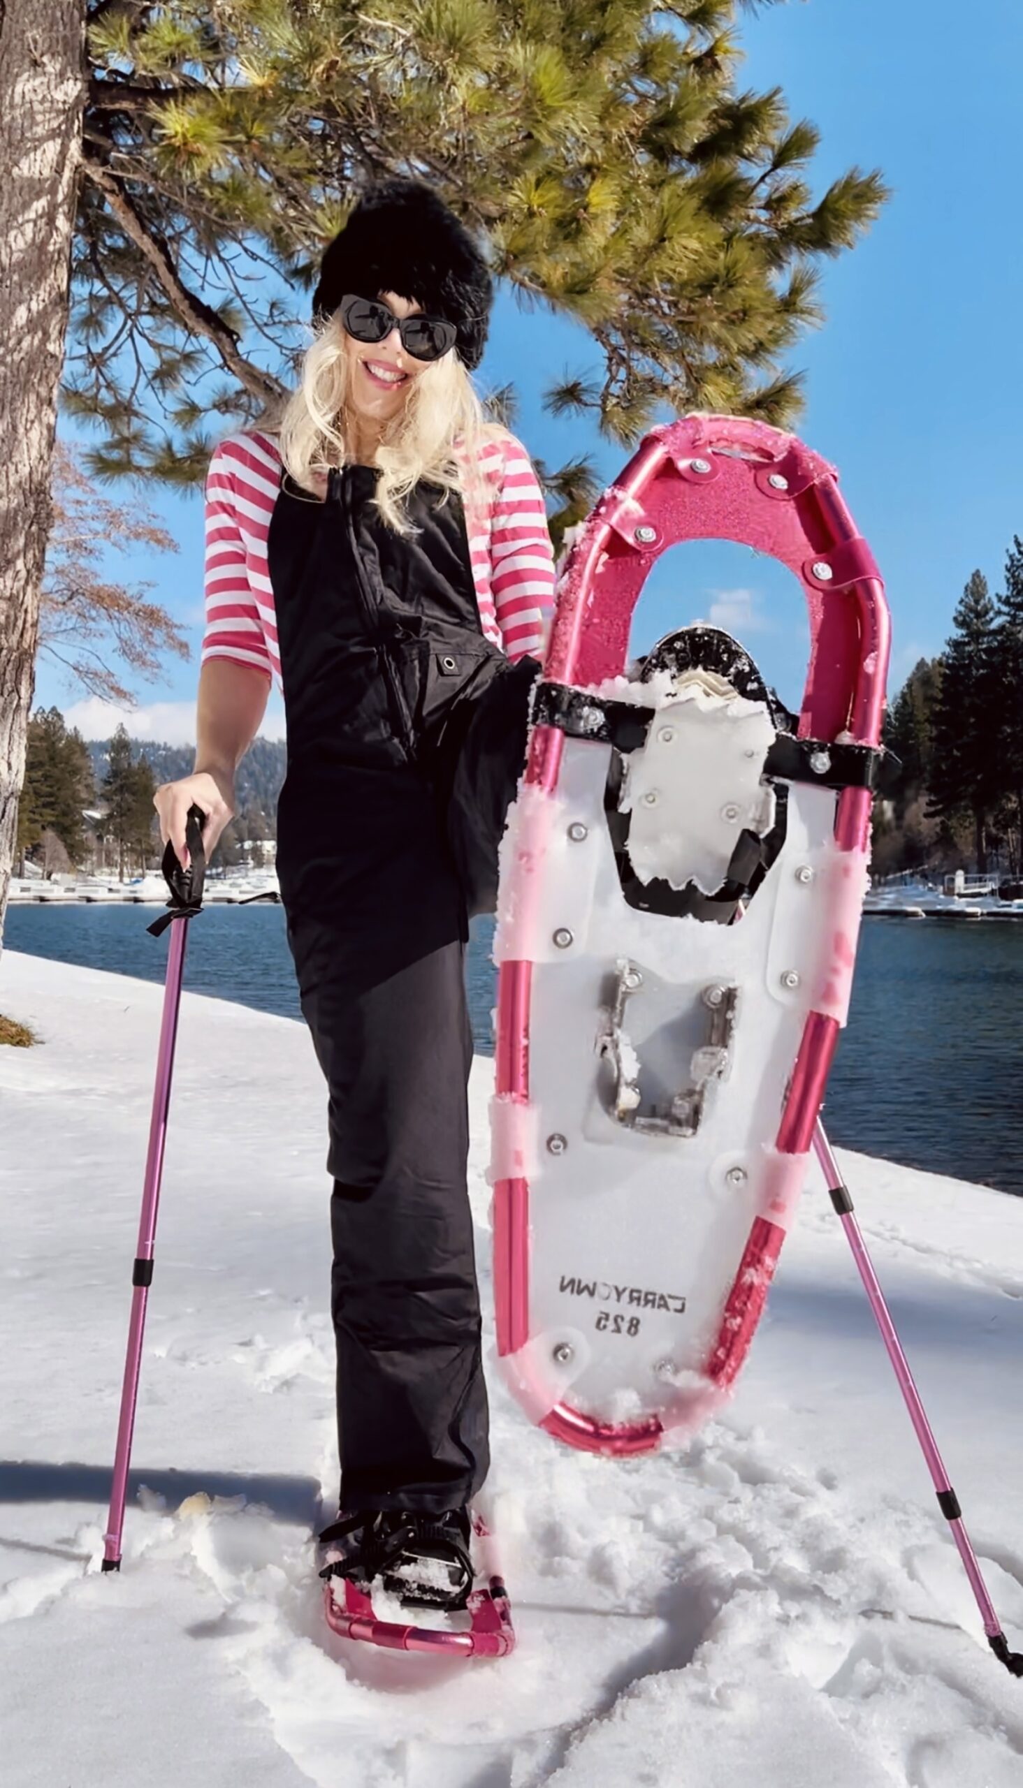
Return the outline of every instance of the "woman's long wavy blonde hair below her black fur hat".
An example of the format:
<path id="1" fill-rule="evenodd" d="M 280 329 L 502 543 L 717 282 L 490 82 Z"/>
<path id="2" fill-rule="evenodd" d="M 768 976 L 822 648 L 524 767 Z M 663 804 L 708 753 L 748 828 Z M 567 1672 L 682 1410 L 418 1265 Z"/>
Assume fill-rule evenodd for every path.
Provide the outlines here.
<path id="1" fill-rule="evenodd" d="M 352 461 L 345 438 L 349 354 L 340 313 L 318 325 L 302 358 L 299 388 L 259 422 L 277 434 L 281 461 L 302 490 L 326 486 L 327 472 Z M 404 408 L 386 426 L 374 456 L 379 467 L 376 508 L 399 535 L 415 535 L 404 499 L 429 479 L 467 504 L 485 501 L 479 449 L 508 431 L 486 418 L 472 379 L 454 350 L 411 381 Z M 442 497 L 442 502 L 447 495 Z"/>

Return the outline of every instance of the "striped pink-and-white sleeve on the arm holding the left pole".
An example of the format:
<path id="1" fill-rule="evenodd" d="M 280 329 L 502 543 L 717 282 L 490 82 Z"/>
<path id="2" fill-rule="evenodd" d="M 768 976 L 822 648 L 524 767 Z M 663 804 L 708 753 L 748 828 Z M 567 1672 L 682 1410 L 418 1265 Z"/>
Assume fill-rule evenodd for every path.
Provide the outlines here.
<path id="1" fill-rule="evenodd" d="M 206 633 L 202 663 L 207 658 L 234 658 L 274 674 L 256 595 L 249 581 L 249 561 L 238 517 L 236 474 L 229 449 L 222 442 L 206 474 Z"/>

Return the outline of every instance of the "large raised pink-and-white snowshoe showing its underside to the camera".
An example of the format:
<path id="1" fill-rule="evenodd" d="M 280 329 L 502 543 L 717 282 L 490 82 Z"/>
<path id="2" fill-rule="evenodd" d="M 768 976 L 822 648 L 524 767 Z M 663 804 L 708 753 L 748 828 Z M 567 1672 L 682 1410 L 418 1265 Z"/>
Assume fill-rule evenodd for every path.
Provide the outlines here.
<path id="1" fill-rule="evenodd" d="M 714 628 L 626 676 L 696 538 L 799 578 L 798 717 Z M 764 424 L 653 429 L 565 565 L 501 848 L 490 1178 L 503 1370 L 574 1446 L 692 1434 L 746 1359 L 846 1021 L 887 656 L 832 467 Z"/>

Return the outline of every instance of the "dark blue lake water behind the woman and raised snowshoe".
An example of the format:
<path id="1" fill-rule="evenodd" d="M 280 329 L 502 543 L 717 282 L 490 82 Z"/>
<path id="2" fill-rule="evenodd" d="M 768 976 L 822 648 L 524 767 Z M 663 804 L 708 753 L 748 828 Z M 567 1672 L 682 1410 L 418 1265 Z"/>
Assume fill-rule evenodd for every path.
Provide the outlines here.
<path id="1" fill-rule="evenodd" d="M 145 930 L 156 912 L 14 905 L 5 942 L 161 982 L 166 933 Z M 494 1053 L 492 926 L 476 921 L 469 949 L 483 1055 Z M 281 908 L 206 908 L 190 930 L 186 985 L 300 1017 Z M 1023 924 L 867 919 L 826 1121 L 848 1148 L 1023 1194 Z"/>

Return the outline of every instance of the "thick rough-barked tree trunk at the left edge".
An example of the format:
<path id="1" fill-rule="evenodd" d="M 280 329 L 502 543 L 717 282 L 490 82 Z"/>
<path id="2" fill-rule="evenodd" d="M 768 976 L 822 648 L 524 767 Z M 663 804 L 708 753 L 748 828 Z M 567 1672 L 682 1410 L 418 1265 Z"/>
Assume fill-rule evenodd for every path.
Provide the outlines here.
<path id="1" fill-rule="evenodd" d="M 50 533 L 84 27 L 84 0 L 0 0 L 0 937 Z"/>

